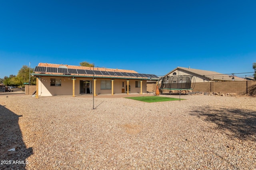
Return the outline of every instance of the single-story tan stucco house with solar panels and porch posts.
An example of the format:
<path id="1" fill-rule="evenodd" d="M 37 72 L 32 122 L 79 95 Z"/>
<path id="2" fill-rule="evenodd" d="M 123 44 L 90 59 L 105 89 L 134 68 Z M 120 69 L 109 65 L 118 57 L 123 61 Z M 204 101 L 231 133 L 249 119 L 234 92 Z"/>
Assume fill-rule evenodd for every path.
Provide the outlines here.
<path id="1" fill-rule="evenodd" d="M 37 78 L 36 96 L 146 93 L 147 80 L 157 81 L 154 74 L 134 70 L 92 68 L 39 63 L 33 76 Z"/>

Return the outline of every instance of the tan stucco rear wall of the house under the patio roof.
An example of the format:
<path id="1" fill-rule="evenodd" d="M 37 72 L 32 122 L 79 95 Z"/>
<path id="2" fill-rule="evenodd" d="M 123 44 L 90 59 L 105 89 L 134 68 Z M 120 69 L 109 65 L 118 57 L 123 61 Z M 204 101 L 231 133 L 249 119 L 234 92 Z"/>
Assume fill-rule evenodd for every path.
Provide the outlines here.
<path id="1" fill-rule="evenodd" d="M 50 86 L 51 78 L 60 78 L 61 86 Z M 75 80 L 75 95 L 80 94 L 80 80 L 90 81 L 90 89 L 93 92 L 93 81 L 92 78 L 76 78 Z M 111 79 L 102 79 L 97 78 L 96 80 L 96 94 L 111 94 L 112 90 L 101 90 L 100 89 L 100 80 L 111 80 Z M 135 81 L 140 83 L 140 80 L 130 80 L 129 85 L 131 86 L 130 93 L 140 93 L 140 88 L 135 87 Z M 124 82 L 124 87 L 122 87 L 122 82 Z M 39 96 L 56 96 L 56 95 L 72 95 L 73 93 L 73 80 L 68 77 L 58 77 L 58 76 L 43 76 L 38 81 L 38 95 Z M 126 88 L 127 81 L 122 79 L 114 79 L 114 94 L 122 93 L 122 88 Z M 142 81 L 142 93 L 146 92 L 146 80 Z"/>

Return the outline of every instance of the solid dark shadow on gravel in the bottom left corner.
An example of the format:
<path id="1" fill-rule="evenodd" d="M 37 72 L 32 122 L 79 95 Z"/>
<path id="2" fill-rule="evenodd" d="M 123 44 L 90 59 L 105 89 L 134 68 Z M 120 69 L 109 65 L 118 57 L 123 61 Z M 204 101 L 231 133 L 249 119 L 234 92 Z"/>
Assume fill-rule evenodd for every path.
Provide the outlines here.
<path id="1" fill-rule="evenodd" d="M 26 158 L 33 154 L 32 148 L 26 148 L 22 139 L 16 115 L 5 106 L 0 105 L 0 170 L 25 170 Z M 8 151 L 15 149 L 15 151 Z"/>

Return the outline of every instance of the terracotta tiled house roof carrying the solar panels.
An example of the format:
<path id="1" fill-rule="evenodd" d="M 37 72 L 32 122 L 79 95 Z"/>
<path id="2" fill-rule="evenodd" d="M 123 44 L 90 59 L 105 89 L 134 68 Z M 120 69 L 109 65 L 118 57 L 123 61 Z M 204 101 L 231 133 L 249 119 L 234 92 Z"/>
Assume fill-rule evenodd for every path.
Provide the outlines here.
<path id="1" fill-rule="evenodd" d="M 94 69 L 94 72 L 93 72 Z M 34 69 L 34 76 L 76 76 L 95 78 L 122 78 L 140 80 L 159 80 L 154 74 L 140 74 L 134 70 L 72 66 L 64 64 L 39 63 Z"/>

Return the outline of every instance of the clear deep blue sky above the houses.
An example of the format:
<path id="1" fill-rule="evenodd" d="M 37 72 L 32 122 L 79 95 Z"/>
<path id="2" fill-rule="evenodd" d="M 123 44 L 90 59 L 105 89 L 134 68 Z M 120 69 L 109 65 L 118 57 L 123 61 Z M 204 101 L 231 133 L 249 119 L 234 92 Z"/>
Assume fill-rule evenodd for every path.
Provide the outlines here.
<path id="1" fill-rule="evenodd" d="M 252 0 L 1 1 L 0 78 L 30 62 L 160 76 L 177 66 L 253 72 L 255 9 Z"/>

